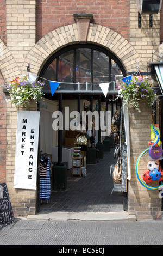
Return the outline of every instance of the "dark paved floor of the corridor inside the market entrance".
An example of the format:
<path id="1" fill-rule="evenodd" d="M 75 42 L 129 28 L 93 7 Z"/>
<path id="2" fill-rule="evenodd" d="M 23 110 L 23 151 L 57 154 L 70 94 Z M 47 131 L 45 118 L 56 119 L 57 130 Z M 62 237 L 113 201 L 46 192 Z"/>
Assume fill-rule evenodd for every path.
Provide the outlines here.
<path id="1" fill-rule="evenodd" d="M 114 148 L 104 152 L 96 164 L 87 164 L 85 177 L 71 177 L 67 170 L 67 190 L 51 191 L 51 197 L 43 200 L 40 213 L 49 212 L 120 212 L 123 211 L 123 192 L 112 191 L 114 182 L 110 166 L 115 164 Z"/>

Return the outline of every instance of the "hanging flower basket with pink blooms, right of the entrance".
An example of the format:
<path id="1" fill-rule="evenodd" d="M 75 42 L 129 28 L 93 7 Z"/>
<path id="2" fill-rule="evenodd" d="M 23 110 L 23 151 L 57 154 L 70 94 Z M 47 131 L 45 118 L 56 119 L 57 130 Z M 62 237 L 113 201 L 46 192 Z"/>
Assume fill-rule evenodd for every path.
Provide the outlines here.
<path id="1" fill-rule="evenodd" d="M 129 82 L 118 86 L 118 97 L 123 98 L 127 108 L 131 105 L 141 112 L 139 103 L 142 100 L 145 100 L 148 106 L 152 106 L 156 99 L 156 91 L 152 88 L 153 82 L 153 80 L 148 80 L 148 77 L 135 76 Z"/>

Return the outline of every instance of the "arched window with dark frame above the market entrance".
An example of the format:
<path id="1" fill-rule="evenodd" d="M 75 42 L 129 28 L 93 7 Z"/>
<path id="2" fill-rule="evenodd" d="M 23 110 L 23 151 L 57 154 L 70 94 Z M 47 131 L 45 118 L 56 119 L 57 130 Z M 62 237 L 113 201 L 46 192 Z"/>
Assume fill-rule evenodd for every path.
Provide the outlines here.
<path id="1" fill-rule="evenodd" d="M 109 91 L 115 92 L 117 81 L 126 76 L 122 63 L 114 54 L 95 45 L 72 45 L 55 53 L 41 70 L 46 78 L 44 92 L 49 93 L 49 82 L 60 82 L 57 91 L 100 91 L 99 83 L 110 82 Z"/>

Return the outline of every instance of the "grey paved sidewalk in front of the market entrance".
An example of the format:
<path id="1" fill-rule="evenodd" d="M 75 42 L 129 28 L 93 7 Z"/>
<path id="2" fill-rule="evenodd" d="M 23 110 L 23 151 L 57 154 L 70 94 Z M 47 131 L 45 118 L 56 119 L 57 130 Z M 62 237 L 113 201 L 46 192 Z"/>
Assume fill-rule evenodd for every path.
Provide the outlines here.
<path id="1" fill-rule="evenodd" d="M 163 245 L 162 220 L 28 220 L 0 229 L 0 245 L 55 245 L 59 249 L 107 245 Z M 68 246 L 68 247 L 66 247 Z M 5 250 L 5 247 L 1 249 Z M 79 254 L 78 252 L 77 254 Z"/>

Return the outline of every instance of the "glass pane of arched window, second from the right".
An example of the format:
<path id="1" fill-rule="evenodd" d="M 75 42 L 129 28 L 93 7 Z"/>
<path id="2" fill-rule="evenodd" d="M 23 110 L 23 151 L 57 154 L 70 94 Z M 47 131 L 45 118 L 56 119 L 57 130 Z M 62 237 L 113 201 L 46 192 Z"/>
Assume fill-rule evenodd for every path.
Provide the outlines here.
<path id="1" fill-rule="evenodd" d="M 94 50 L 93 52 L 93 84 L 109 82 L 109 57 Z M 101 90 L 99 86 L 93 85 L 93 90 Z"/>

